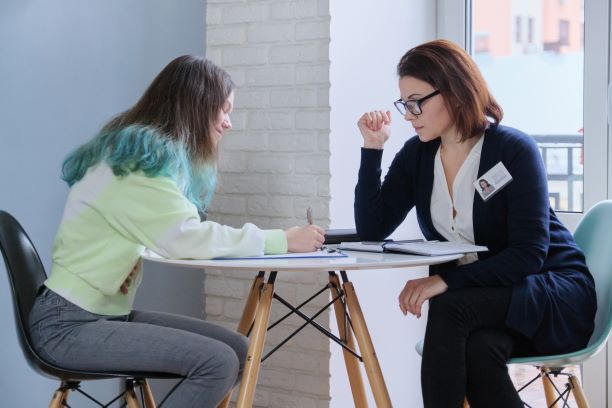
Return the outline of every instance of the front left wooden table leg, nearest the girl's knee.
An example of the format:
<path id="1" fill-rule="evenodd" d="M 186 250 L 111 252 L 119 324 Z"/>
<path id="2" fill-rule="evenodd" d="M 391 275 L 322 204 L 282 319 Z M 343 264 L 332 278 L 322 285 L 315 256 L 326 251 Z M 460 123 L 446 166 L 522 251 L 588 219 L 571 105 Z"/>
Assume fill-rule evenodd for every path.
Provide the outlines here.
<path id="1" fill-rule="evenodd" d="M 236 408 L 251 408 L 253 405 L 255 385 L 257 384 L 259 368 L 261 366 L 261 354 L 266 341 L 266 331 L 270 320 L 270 307 L 272 305 L 272 296 L 274 295 L 275 274 L 275 272 L 271 273 L 268 283 L 266 283 L 261 290 L 261 298 L 255 314 L 255 326 L 251 333 L 249 351 L 247 354 L 247 361 L 244 365 L 244 371 L 242 372 L 242 382 L 240 383 Z"/>

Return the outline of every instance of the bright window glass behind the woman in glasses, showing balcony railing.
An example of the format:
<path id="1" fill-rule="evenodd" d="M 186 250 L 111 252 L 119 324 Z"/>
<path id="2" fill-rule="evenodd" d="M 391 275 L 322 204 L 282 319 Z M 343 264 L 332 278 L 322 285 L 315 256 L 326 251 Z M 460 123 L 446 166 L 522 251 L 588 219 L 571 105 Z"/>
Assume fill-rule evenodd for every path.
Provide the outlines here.
<path id="1" fill-rule="evenodd" d="M 491 26 L 496 30 L 488 39 L 487 55 L 482 55 L 482 40 L 473 35 L 474 59 L 504 109 L 503 123 L 532 135 L 540 146 L 552 207 L 556 211 L 581 212 L 584 49 L 560 47 L 569 43 L 570 21 L 557 20 L 562 12 L 559 3 L 505 0 L 507 7 L 492 8 L 484 4 L 487 2 L 472 2 L 473 32 Z M 511 10 L 516 8 L 529 15 L 514 18 L 517 43 L 523 39 L 521 25 L 526 20 L 527 44 L 520 47 L 511 44 Z M 577 26 L 582 26 L 582 15 L 581 11 L 572 17 Z M 547 31 L 555 21 L 559 21 L 558 36 Z M 554 46 L 552 42 L 547 46 L 544 41 L 552 37 L 556 37 Z M 542 39 L 540 44 L 537 38 Z"/>

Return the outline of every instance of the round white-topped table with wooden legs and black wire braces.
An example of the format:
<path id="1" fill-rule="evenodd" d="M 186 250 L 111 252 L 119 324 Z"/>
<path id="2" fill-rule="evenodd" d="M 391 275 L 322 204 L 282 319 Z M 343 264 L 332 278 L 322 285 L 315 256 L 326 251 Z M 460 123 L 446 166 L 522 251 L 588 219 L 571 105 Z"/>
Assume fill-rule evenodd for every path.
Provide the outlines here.
<path id="1" fill-rule="evenodd" d="M 370 333 L 361 311 L 361 306 L 357 299 L 353 284 L 349 281 L 346 271 L 360 269 L 387 269 L 387 268 L 410 268 L 415 266 L 426 266 L 440 264 L 459 259 L 463 254 L 444 255 L 444 256 L 418 256 L 395 253 L 374 253 L 342 251 L 348 255 L 337 258 L 303 258 L 299 254 L 288 254 L 290 258 L 271 259 L 271 258 L 250 258 L 250 259 L 216 259 L 216 260 L 176 260 L 164 259 L 155 254 L 145 254 L 144 259 L 152 262 L 180 265 L 191 268 L 214 268 L 243 270 L 245 273 L 258 271 L 251 290 L 247 297 L 242 318 L 238 324 L 238 331 L 242 334 L 249 334 L 249 351 L 247 361 L 242 374 L 242 382 L 236 407 L 250 408 L 253 404 L 255 386 L 259 376 L 259 369 L 262 361 L 262 353 L 268 323 L 270 319 L 270 308 L 272 299 L 275 298 L 283 303 L 295 313 L 302 317 L 306 323 L 298 328 L 291 336 L 281 342 L 267 356 L 273 353 L 278 347 L 284 344 L 289 338 L 295 335 L 303 327 L 310 324 L 317 330 L 334 340 L 343 348 L 344 362 L 351 384 L 355 406 L 367 406 L 367 398 L 361 377 L 359 363 L 363 362 L 372 394 L 379 408 L 391 408 L 391 399 L 385 385 L 378 358 L 374 350 L 374 345 L 370 338 Z M 331 292 L 331 302 L 314 316 L 307 316 L 300 308 L 304 306 L 293 306 L 285 299 L 274 293 L 274 281 L 278 272 L 321 272 L 329 273 L 329 283 L 319 293 L 326 289 Z M 340 271 L 342 283 L 336 274 Z M 269 273 L 268 280 L 264 281 L 265 274 Z M 379 276 L 379 275 L 377 275 Z M 314 296 L 313 296 L 314 297 Z M 317 324 L 314 319 L 328 307 L 334 307 L 336 321 L 338 323 L 339 337 L 330 333 L 326 328 Z M 277 322 L 278 323 L 278 322 Z M 276 325 L 276 323 L 274 324 Z M 359 345 L 361 355 L 355 351 L 353 335 Z M 264 357 L 265 358 L 267 358 Z M 229 406 L 228 395 L 220 408 Z"/>

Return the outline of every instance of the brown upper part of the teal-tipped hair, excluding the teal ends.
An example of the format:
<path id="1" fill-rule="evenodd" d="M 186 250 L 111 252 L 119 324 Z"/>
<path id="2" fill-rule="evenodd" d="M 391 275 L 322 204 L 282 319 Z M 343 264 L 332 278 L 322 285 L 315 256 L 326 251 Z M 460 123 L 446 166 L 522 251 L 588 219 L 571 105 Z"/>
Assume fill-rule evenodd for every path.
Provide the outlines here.
<path id="1" fill-rule="evenodd" d="M 101 133 L 143 125 L 185 145 L 196 166 L 214 163 L 211 125 L 234 89 L 229 74 L 210 60 L 183 55 L 155 77 L 140 100 Z"/>

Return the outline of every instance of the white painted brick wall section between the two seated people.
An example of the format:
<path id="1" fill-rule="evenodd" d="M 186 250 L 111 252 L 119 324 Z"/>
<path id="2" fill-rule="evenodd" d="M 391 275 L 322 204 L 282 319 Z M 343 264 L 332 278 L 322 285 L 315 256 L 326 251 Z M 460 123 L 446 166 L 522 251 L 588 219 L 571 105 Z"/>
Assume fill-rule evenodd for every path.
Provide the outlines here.
<path id="1" fill-rule="evenodd" d="M 211 219 L 286 228 L 303 224 L 311 206 L 329 225 L 329 22 L 328 0 L 207 1 L 206 56 L 237 85 Z M 207 271 L 207 319 L 235 328 L 254 275 Z M 326 283 L 326 274 L 281 273 L 276 287 L 299 303 Z M 285 313 L 273 301 L 271 321 Z M 317 321 L 328 327 L 329 314 Z M 274 328 L 266 350 L 302 323 L 293 316 Z M 307 328 L 264 362 L 254 406 L 328 408 L 327 338 Z"/>

